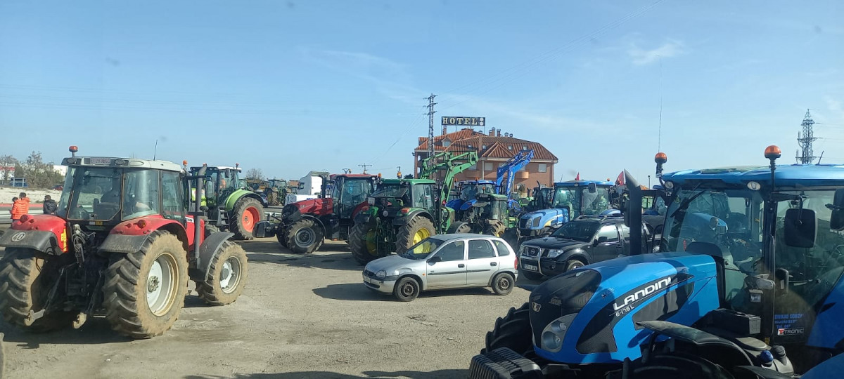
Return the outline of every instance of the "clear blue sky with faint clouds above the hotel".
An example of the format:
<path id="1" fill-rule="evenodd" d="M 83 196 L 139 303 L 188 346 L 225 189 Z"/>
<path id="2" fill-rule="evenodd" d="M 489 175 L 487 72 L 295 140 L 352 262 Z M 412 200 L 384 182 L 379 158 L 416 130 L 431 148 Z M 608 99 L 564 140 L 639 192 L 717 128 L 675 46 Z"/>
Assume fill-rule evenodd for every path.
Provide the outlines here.
<path id="1" fill-rule="evenodd" d="M 158 157 L 392 176 L 437 116 L 560 157 L 558 179 L 844 163 L 844 5 L 718 2 L 0 1 L 0 154 Z M 661 68 L 660 68 L 661 67 Z M 441 127 L 436 126 L 436 131 Z"/>

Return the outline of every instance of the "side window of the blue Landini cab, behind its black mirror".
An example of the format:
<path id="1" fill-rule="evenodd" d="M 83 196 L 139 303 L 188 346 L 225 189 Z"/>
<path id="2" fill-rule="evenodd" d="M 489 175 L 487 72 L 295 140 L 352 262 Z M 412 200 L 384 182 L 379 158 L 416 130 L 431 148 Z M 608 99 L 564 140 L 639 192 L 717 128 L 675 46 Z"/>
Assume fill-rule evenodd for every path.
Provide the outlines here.
<path id="1" fill-rule="evenodd" d="M 781 201 L 776 205 L 777 269 L 788 270 L 790 286 L 809 307 L 814 307 L 832 290 L 844 271 L 844 235 L 830 229 L 833 190 L 787 192 L 803 196 L 803 209 L 814 211 L 818 220 L 817 237 L 813 248 L 793 248 L 784 242 L 783 217 L 788 208 L 798 208 L 798 201 Z"/>

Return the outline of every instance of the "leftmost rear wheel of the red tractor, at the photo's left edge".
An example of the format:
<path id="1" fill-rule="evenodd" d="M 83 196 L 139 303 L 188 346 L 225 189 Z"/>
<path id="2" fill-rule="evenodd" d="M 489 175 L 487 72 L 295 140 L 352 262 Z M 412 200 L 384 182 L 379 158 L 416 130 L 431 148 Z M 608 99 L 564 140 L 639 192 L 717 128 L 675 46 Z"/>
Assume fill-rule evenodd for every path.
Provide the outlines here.
<path id="1" fill-rule="evenodd" d="M 46 255 L 30 248 L 8 248 L 0 263 L 0 313 L 7 323 L 32 332 L 47 332 L 73 323 L 73 312 L 54 311 L 32 321 L 30 312 L 44 309 L 57 279 Z"/>

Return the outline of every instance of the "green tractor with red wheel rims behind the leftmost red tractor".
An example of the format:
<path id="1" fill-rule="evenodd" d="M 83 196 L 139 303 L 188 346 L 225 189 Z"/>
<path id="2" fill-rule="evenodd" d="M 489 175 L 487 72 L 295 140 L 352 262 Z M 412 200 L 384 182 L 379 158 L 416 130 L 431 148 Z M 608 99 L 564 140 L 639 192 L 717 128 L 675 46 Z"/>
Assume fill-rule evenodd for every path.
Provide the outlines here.
<path id="1" fill-rule="evenodd" d="M 201 167 L 192 167 L 197 175 Z M 235 233 L 235 239 L 252 239 L 255 224 L 263 218 L 261 196 L 241 187 L 241 168 L 208 167 L 203 181 L 202 205 L 208 206 L 208 222 Z M 194 192 L 191 191 L 191 196 Z"/>

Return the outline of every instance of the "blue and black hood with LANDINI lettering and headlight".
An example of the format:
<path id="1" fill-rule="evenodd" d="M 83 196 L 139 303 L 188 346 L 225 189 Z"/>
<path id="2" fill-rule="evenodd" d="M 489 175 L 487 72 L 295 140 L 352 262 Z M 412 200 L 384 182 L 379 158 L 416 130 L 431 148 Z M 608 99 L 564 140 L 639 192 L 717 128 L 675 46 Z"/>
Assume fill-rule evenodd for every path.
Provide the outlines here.
<path id="1" fill-rule="evenodd" d="M 686 252 L 590 264 L 531 292 L 534 350 L 566 364 L 641 357 L 651 332 L 636 322 L 691 325 L 718 307 L 715 260 Z"/>

